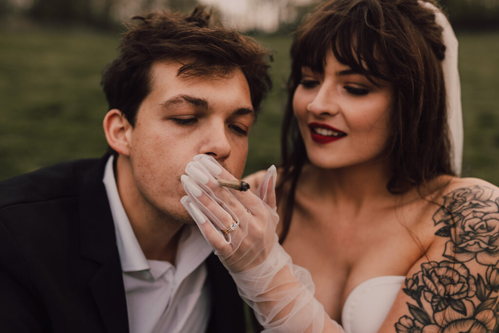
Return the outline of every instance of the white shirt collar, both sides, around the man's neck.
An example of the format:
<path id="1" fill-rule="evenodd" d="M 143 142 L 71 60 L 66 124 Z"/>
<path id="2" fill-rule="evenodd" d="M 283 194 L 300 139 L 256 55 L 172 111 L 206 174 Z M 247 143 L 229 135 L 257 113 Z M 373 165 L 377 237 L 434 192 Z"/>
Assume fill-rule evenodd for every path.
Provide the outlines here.
<path id="1" fill-rule="evenodd" d="M 118 187 L 114 178 L 113 160 L 113 156 L 109 157 L 102 182 L 106 188 L 113 217 L 121 268 L 123 272 L 149 270 L 151 268 L 149 262 L 135 237 L 130 220 L 118 194 Z M 211 252 L 211 246 L 204 239 L 198 227 L 196 225 L 186 225 L 183 228 L 177 250 L 176 280 L 182 281 L 201 265 Z"/>

